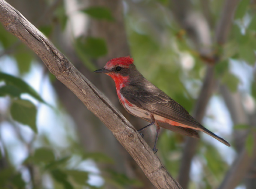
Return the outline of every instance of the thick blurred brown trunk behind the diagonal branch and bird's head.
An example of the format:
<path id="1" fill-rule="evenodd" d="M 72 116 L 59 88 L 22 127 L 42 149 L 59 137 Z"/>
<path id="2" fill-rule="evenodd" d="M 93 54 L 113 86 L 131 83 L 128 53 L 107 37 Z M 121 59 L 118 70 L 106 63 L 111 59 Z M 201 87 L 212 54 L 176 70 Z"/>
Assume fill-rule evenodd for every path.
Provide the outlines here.
<path id="1" fill-rule="evenodd" d="M 90 18 L 88 28 L 85 28 L 84 30 L 85 35 L 102 38 L 105 40 L 107 45 L 108 54 L 103 58 L 99 58 L 94 61 L 98 68 L 102 68 L 105 63 L 112 58 L 130 55 L 129 45 L 126 39 L 122 1 L 84 0 L 80 1 L 79 5 L 79 7 L 107 7 L 115 19 L 114 22 L 109 22 L 105 20 Z M 59 35 L 57 34 L 56 37 L 58 36 Z M 63 41 L 63 39 L 59 41 Z M 108 97 L 108 99 L 110 99 L 110 101 L 115 106 L 117 106 L 121 113 L 131 123 L 134 123 L 134 125 L 137 126 L 144 126 L 147 124 L 142 122 L 143 120 L 139 118 L 130 116 L 130 114 L 128 114 L 127 111 L 125 111 L 124 108 L 120 105 L 117 98 L 114 82 L 110 77 L 89 72 L 88 69 L 81 63 L 81 61 L 74 56 L 75 52 L 73 46 L 67 47 L 68 49 L 65 49 L 65 53 L 68 54 L 68 57 L 70 60 L 72 60 L 72 63 L 83 75 L 86 75 L 90 81 L 93 81 L 96 87 L 98 87 Z M 115 164 L 111 165 L 111 168 L 120 173 L 125 173 L 129 178 L 140 180 L 143 183 L 144 188 L 154 188 L 154 186 L 151 184 L 151 182 L 149 182 L 148 178 L 133 160 L 133 158 L 120 145 L 120 143 L 118 143 L 108 128 L 106 128 L 100 120 L 96 119 L 90 111 L 85 109 L 81 101 L 75 98 L 73 93 L 62 83 L 56 81 L 54 83 L 54 88 L 56 89 L 63 105 L 74 119 L 80 142 L 84 146 L 85 150 L 99 151 L 107 154 L 115 162 Z M 147 139 L 149 139 L 152 135 L 150 131 L 150 129 L 147 130 L 144 138 L 144 140 L 146 140 L 149 145 L 151 145 L 151 143 Z M 153 145 L 154 140 L 151 141 Z M 108 148 L 108 146 L 111 146 L 111 148 Z M 110 187 L 113 186 L 111 185 Z"/>

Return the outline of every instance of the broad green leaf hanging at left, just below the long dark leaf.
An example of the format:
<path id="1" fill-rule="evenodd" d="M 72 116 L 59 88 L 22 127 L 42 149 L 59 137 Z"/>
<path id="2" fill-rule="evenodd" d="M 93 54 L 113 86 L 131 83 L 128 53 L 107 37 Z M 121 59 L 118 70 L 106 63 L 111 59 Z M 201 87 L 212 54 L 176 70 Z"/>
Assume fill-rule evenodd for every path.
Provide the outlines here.
<path id="1" fill-rule="evenodd" d="M 37 132 L 36 114 L 37 109 L 35 105 L 29 100 L 17 99 L 12 101 L 12 118 L 19 123 L 28 125 L 34 132 Z"/>

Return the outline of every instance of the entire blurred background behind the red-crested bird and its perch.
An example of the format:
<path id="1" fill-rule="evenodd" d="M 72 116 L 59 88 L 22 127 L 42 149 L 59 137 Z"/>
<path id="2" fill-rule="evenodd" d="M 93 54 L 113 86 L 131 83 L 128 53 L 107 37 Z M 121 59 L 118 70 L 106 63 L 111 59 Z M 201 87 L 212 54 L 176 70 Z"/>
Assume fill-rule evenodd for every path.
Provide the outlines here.
<path id="1" fill-rule="evenodd" d="M 232 143 L 226 148 L 204 134 L 192 140 L 161 129 L 157 156 L 184 188 L 254 189 L 254 0 L 8 2 L 137 129 L 146 123 L 123 110 L 113 81 L 92 74 L 111 58 L 132 56 L 147 79 Z M 38 188 L 154 188 L 103 123 L 2 27 L 0 52 L 0 77 L 3 72 L 21 78 L 53 107 L 0 78 L 0 146 L 5 165 L 0 187 L 33 188 L 29 176 L 33 172 L 41 178 L 33 184 Z M 26 119 L 30 122 L 17 117 L 17 108 L 25 104 L 31 106 Z M 144 139 L 152 146 L 155 128 L 145 132 Z"/>

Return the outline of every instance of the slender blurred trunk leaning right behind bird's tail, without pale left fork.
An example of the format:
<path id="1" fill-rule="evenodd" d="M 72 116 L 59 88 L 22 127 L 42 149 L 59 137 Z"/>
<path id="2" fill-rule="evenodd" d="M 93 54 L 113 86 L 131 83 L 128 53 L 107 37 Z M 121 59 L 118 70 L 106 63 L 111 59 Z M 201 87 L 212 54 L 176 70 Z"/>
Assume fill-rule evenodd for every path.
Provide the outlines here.
<path id="1" fill-rule="evenodd" d="M 215 34 L 215 43 L 223 44 L 227 40 L 227 35 L 230 30 L 231 22 L 233 19 L 233 14 L 235 12 L 236 6 L 239 0 L 226 0 L 224 3 L 224 7 L 216 26 L 216 34 Z M 189 11 L 188 11 L 189 12 Z M 186 19 L 186 18 L 184 18 Z M 198 33 L 198 28 L 196 25 L 192 27 L 195 32 Z M 218 58 L 214 59 L 215 63 L 218 62 Z M 216 85 L 216 80 L 214 78 L 214 69 L 213 66 L 207 66 L 206 76 L 203 81 L 203 86 L 198 97 L 197 103 L 194 109 L 194 117 L 197 121 L 202 122 L 203 116 L 205 114 L 206 107 L 208 105 L 209 99 L 212 96 L 214 87 Z M 184 153 L 181 160 L 181 167 L 178 176 L 178 182 L 181 183 L 183 188 L 187 188 L 189 181 L 189 173 L 191 167 L 191 161 L 196 152 L 196 146 L 198 141 L 194 138 L 187 138 L 184 148 Z"/>

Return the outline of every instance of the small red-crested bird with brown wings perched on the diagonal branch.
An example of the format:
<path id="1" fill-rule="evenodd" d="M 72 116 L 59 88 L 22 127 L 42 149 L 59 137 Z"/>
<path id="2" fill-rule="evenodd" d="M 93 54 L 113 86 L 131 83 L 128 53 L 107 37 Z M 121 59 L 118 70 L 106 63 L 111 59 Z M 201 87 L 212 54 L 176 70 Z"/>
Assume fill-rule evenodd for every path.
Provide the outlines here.
<path id="1" fill-rule="evenodd" d="M 144 78 L 130 56 L 111 59 L 102 69 L 94 73 L 109 75 L 115 82 L 118 99 L 126 111 L 150 122 L 138 132 L 149 126 L 156 126 L 154 153 L 157 152 L 156 144 L 160 127 L 195 138 L 199 138 L 197 131 L 203 131 L 230 146 L 226 140 L 203 127 L 178 102 Z"/>

